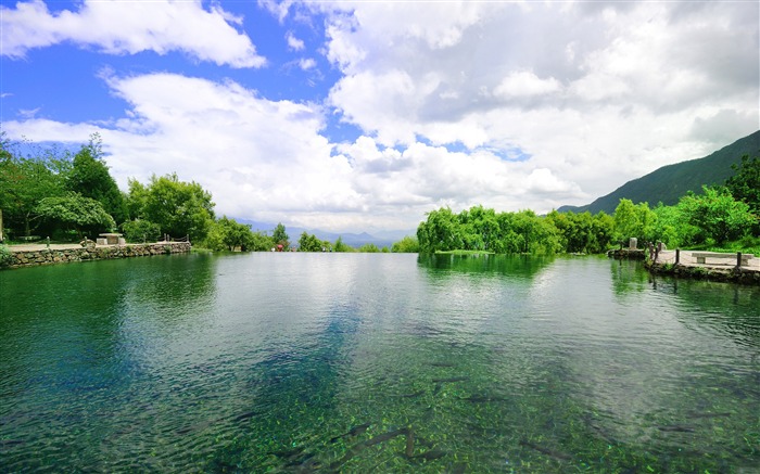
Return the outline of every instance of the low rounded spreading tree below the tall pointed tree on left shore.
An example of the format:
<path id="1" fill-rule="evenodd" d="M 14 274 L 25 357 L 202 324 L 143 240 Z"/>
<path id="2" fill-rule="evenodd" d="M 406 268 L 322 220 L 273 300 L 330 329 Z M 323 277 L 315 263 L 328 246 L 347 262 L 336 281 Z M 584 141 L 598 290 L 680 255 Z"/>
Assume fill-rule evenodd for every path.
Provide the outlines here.
<path id="1" fill-rule="evenodd" d="M 45 197 L 35 208 L 37 217 L 64 230 L 94 236 L 116 227 L 113 217 L 96 200 L 71 193 L 60 197 Z"/>

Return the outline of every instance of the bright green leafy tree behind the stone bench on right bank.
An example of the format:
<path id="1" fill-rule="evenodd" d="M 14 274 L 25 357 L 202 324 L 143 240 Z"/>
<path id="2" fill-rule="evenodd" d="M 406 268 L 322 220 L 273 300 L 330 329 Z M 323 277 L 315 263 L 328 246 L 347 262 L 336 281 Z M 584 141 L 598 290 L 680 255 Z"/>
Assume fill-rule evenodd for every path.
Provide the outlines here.
<path id="1" fill-rule="evenodd" d="M 698 231 L 696 244 L 713 241 L 722 245 L 744 236 L 757 223 L 749 205 L 736 201 L 727 189 L 702 187 L 704 194 L 689 192 L 679 202 L 685 220 Z"/>

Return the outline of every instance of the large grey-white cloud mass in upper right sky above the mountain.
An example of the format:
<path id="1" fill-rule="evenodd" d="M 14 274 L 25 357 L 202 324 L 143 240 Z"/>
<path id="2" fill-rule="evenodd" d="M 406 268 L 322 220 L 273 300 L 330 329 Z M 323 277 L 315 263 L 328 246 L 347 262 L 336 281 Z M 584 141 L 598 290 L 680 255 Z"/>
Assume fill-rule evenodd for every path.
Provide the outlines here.
<path id="1" fill-rule="evenodd" d="M 532 175 L 552 206 L 563 203 L 549 191 L 583 204 L 712 152 L 695 117 L 724 111 L 723 145 L 758 127 L 757 3 L 312 8 L 327 12 L 327 57 L 343 73 L 329 100 L 345 121 L 389 146 L 508 143 L 552 171 Z"/>

